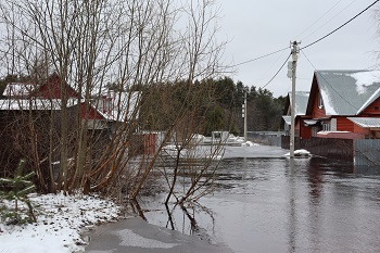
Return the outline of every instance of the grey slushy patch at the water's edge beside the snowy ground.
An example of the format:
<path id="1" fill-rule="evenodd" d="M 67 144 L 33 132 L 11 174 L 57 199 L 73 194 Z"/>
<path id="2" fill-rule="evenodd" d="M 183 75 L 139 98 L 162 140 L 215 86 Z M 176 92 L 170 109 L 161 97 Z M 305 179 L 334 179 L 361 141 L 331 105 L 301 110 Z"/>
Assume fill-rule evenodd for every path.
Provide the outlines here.
<path id="1" fill-rule="evenodd" d="M 148 224 L 130 217 L 98 227 L 90 233 L 88 253 L 231 253 L 224 245 L 212 245 L 198 237 Z"/>

